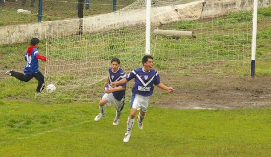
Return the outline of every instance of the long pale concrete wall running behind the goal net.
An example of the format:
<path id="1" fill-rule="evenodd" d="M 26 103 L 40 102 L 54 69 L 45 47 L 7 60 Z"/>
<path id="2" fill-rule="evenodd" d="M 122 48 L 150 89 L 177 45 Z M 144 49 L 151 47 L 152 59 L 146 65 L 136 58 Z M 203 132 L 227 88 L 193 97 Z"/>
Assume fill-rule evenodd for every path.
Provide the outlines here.
<path id="1" fill-rule="evenodd" d="M 271 5 L 271 0 L 258 0 L 258 3 L 259 7 L 268 7 Z M 252 8 L 253 0 L 199 0 L 186 4 L 154 7 L 152 8 L 152 22 L 154 22 L 153 25 L 159 25 L 180 20 L 197 20 Z M 138 9 L 117 11 L 81 20 L 83 20 L 83 32 L 93 32 L 145 23 L 145 17 L 145 9 Z M 32 37 L 42 40 L 46 36 L 51 38 L 77 34 L 79 22 L 79 19 L 73 19 L 1 26 L 0 45 L 29 42 Z"/>

